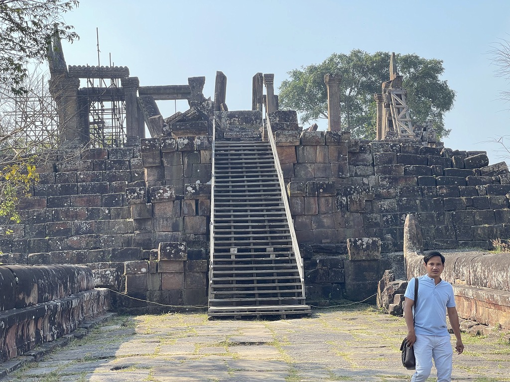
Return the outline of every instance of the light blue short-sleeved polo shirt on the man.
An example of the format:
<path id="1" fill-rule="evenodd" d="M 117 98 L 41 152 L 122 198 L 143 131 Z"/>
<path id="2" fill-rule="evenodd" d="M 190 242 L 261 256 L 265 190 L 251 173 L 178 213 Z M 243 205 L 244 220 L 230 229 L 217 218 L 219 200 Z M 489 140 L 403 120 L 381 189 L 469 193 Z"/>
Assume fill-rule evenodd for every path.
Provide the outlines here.
<path id="1" fill-rule="evenodd" d="M 404 297 L 414 301 L 415 279 L 407 284 Z M 415 310 L 415 333 L 429 336 L 449 336 L 446 308 L 455 306 L 453 287 L 444 280 L 436 285 L 427 275 L 418 278 L 418 304 Z M 414 309 L 413 309 L 414 310 Z"/>

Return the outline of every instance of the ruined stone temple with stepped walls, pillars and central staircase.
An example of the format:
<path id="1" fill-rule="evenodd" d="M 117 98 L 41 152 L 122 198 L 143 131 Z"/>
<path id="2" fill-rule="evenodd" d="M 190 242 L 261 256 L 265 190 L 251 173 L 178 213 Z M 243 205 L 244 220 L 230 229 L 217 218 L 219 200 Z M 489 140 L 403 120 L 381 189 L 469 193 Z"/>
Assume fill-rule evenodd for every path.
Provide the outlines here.
<path id="1" fill-rule="evenodd" d="M 303 131 L 296 112 L 278 110 L 273 74 L 253 76 L 251 110 L 229 111 L 222 72 L 212 99 L 205 77 L 140 86 L 127 67 L 66 66 L 54 46 L 61 150 L 0 242 L 3 263 L 27 265 L 5 266 L 7 274 L 84 264 L 85 284 L 110 289 L 119 311 L 161 310 L 154 302 L 205 307 L 211 317 L 291 317 L 309 314 L 309 304 L 372 297 L 385 270 L 393 276 L 379 297 L 394 306 L 407 215 L 419 222 L 422 249 L 488 250 L 510 237 L 506 163 L 443 147 L 431 127 L 414 126 L 394 60 L 375 95 L 371 142 L 341 130 L 337 76 L 324 78 L 327 131 Z M 164 118 L 156 101 L 170 99 L 189 109 Z M 498 278 L 500 263 L 491 264 L 487 278 Z M 477 294 L 463 294 L 465 315 L 494 285 L 506 293 L 499 306 L 510 306 L 507 282 L 476 285 Z M 108 308 L 101 293 L 88 315 Z M 10 322 L 38 327 L 44 314 Z M 498 317 L 510 328 L 508 313 Z"/>

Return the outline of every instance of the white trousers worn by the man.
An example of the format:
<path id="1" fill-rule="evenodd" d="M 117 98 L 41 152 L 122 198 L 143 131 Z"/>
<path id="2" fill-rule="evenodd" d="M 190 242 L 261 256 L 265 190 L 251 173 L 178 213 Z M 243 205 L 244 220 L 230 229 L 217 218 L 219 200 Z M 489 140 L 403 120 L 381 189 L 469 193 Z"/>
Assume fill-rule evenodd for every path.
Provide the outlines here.
<path id="1" fill-rule="evenodd" d="M 414 343 L 416 371 L 411 382 L 424 382 L 430 375 L 432 359 L 438 370 L 438 382 L 450 382 L 453 348 L 450 336 L 416 335 Z"/>

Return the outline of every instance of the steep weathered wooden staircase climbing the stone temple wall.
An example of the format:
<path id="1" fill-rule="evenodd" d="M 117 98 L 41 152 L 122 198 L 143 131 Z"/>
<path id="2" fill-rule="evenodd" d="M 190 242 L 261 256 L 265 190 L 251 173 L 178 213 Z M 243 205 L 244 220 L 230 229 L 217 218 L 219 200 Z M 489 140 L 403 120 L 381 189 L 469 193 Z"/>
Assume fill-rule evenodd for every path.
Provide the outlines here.
<path id="1" fill-rule="evenodd" d="M 213 171 L 209 316 L 310 314 L 269 143 L 215 142 Z"/>

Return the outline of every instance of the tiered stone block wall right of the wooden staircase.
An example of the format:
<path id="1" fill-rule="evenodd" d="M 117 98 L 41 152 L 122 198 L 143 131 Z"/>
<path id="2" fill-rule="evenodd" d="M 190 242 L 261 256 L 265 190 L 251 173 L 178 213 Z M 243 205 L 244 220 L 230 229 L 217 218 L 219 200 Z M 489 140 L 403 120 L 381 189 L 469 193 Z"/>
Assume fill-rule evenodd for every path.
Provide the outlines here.
<path id="1" fill-rule="evenodd" d="M 349 287 L 358 280 L 347 269 L 346 240 L 379 238 L 383 254 L 402 251 L 408 213 L 422 227 L 425 249 L 489 249 L 492 239 L 510 237 L 508 168 L 504 162 L 489 165 L 484 152 L 413 141 L 356 141 L 324 131 L 276 131 L 275 141 L 309 298 L 364 296 L 358 293 L 363 288 Z M 329 173 L 335 161 L 346 171 Z M 316 172 L 323 163 L 329 163 L 327 174 Z M 387 256 L 363 261 L 374 262 L 367 264 L 373 270 L 366 280 L 370 285 L 392 268 Z"/>

